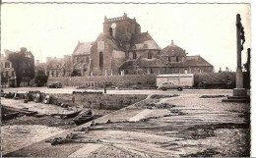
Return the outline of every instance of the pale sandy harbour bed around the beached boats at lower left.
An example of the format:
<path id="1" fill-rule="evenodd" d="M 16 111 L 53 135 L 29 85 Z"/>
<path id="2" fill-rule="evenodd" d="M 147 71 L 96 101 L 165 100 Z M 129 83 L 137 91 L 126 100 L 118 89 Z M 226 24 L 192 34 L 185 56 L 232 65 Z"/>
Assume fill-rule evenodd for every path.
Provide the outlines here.
<path id="1" fill-rule="evenodd" d="M 56 105 L 45 105 L 42 103 L 23 103 L 23 100 L 2 98 L 1 114 L 14 113 L 21 108 L 29 108 L 37 111 L 38 114 L 45 116 L 25 116 L 19 115 L 17 118 L 2 121 L 2 154 L 6 154 L 22 147 L 28 146 L 34 142 L 43 140 L 49 136 L 77 127 L 70 119 L 59 119 L 48 116 L 49 114 L 58 113 L 62 108 Z M 4 104 L 4 105 L 3 105 Z M 94 110 L 96 115 L 106 115 L 111 110 Z"/>

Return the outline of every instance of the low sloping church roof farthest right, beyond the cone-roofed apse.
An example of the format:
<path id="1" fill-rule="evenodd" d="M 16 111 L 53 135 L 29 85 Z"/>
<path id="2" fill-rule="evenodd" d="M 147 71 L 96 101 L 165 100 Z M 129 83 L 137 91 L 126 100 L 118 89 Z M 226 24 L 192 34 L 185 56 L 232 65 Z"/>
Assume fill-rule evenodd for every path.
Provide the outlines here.
<path id="1" fill-rule="evenodd" d="M 196 56 L 187 56 L 186 60 L 184 61 L 184 66 L 192 67 L 192 66 L 213 66 L 213 65 L 208 63 L 200 55 L 196 55 Z"/>

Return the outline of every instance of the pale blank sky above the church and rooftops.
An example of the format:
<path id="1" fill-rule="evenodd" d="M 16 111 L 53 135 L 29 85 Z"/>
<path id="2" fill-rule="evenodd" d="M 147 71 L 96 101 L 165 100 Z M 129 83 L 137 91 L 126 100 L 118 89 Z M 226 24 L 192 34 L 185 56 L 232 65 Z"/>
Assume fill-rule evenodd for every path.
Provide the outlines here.
<path id="1" fill-rule="evenodd" d="M 164 48 L 174 41 L 219 71 L 236 69 L 236 14 L 245 29 L 242 62 L 251 47 L 249 4 L 3 4 L 1 53 L 27 47 L 35 59 L 71 55 L 78 41 L 95 41 L 107 18 L 136 18 Z"/>

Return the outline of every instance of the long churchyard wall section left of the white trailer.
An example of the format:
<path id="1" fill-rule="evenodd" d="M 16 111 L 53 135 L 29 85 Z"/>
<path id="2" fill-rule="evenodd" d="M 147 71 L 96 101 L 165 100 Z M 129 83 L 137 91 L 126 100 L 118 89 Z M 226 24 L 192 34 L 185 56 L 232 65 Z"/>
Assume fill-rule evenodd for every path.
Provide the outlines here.
<path id="1" fill-rule="evenodd" d="M 48 84 L 54 81 L 61 81 L 64 86 L 97 86 L 102 87 L 103 82 L 111 82 L 118 87 L 132 87 L 132 86 L 156 86 L 156 75 L 133 75 L 133 76 L 93 76 L 93 77 L 63 77 L 63 78 L 49 78 Z"/>

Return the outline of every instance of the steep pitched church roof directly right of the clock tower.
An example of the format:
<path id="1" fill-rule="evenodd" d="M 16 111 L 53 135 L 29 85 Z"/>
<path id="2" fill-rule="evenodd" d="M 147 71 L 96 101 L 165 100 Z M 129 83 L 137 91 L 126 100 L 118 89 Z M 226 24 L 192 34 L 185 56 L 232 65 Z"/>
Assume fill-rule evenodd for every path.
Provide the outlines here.
<path id="1" fill-rule="evenodd" d="M 142 33 L 132 35 L 131 49 L 133 50 L 159 49 L 160 50 L 160 46 L 152 38 L 149 32 L 142 32 Z"/>

